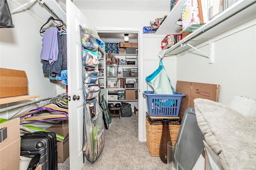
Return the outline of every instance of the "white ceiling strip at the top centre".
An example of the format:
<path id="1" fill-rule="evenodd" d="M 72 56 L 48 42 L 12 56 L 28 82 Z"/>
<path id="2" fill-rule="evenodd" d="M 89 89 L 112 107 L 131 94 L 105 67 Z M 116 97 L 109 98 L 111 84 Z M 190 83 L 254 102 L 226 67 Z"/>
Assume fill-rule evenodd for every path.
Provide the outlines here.
<path id="1" fill-rule="evenodd" d="M 170 0 L 72 0 L 80 10 L 170 11 Z"/>

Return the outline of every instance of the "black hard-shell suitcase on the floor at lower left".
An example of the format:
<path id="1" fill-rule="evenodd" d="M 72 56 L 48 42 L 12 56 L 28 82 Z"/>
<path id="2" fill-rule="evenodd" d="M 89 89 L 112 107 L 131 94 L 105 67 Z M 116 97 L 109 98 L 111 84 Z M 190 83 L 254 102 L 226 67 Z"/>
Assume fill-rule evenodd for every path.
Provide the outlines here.
<path id="1" fill-rule="evenodd" d="M 20 155 L 33 157 L 41 154 L 42 170 L 57 170 L 57 140 L 55 132 L 33 132 L 21 136 Z"/>

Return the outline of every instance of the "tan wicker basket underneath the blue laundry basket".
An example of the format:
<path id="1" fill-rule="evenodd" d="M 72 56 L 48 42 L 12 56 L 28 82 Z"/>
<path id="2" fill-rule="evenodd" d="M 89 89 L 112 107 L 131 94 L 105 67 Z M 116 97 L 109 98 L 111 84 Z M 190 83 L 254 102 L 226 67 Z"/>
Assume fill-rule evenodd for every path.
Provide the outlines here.
<path id="1" fill-rule="evenodd" d="M 150 125 L 150 120 L 146 117 L 146 137 L 147 137 L 147 147 L 151 156 L 159 156 L 160 140 L 162 135 L 162 122 L 155 122 Z M 179 122 L 170 122 L 170 135 L 172 142 L 176 142 L 178 133 L 180 130 Z"/>

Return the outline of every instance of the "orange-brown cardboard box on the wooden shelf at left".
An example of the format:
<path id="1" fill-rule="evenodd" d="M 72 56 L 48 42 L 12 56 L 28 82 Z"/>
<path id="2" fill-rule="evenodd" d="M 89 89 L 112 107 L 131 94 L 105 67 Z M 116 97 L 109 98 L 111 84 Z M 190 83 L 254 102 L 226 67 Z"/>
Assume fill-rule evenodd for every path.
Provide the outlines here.
<path id="1" fill-rule="evenodd" d="M 0 68 L 0 98 L 28 95 L 25 71 Z"/>

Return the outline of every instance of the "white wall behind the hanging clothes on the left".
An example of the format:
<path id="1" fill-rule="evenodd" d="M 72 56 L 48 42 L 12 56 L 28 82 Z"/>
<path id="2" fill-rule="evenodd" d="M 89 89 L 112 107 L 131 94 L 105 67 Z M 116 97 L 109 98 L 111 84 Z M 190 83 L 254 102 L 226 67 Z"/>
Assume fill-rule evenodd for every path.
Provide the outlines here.
<path id="1" fill-rule="evenodd" d="M 8 5 L 10 11 L 18 7 L 13 1 L 8 1 Z M 56 81 L 44 75 L 40 59 L 43 38 L 40 28 L 44 23 L 25 11 L 12 14 L 12 20 L 14 28 L 0 29 L 0 67 L 25 71 L 29 95 L 40 95 L 40 98 L 56 95 Z"/>

